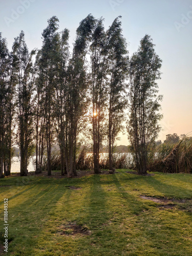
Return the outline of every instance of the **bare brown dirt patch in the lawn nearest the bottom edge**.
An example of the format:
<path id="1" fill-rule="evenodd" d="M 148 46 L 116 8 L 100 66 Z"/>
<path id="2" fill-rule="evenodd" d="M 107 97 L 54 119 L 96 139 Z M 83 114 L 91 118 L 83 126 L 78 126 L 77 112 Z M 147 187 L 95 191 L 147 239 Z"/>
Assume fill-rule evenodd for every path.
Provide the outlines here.
<path id="1" fill-rule="evenodd" d="M 81 236 L 89 236 L 91 231 L 85 226 L 76 225 L 76 223 L 68 223 L 65 227 L 62 227 L 61 235 L 65 236 L 76 236 L 80 234 Z"/>

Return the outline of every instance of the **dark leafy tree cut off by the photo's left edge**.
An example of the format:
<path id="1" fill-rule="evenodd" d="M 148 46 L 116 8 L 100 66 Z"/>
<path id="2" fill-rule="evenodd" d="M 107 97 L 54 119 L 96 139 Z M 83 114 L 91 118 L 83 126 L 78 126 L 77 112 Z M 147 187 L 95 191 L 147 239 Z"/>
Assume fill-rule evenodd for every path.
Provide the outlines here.
<path id="1" fill-rule="evenodd" d="M 11 55 L 7 41 L 0 33 L 0 177 L 9 175 L 13 119 L 13 87 L 10 81 Z M 3 174 L 4 173 L 4 174 Z"/>

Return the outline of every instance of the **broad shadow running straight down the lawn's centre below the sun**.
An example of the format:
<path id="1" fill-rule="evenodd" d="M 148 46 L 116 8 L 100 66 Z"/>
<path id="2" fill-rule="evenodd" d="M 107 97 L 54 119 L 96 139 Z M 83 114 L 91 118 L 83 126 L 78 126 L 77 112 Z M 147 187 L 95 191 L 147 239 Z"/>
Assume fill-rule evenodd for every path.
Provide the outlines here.
<path id="1" fill-rule="evenodd" d="M 103 181 L 105 176 L 93 175 L 89 178 L 89 193 L 86 196 L 84 206 L 87 210 L 83 222 L 91 229 L 91 236 L 81 244 L 81 254 L 86 254 L 89 249 L 89 255 L 118 255 L 122 250 L 121 244 L 117 242 L 118 232 L 111 225 L 113 218 L 113 208 L 110 207 L 111 195 L 104 188 L 105 184 L 111 183 Z M 79 244 L 80 246 L 80 244 Z M 84 251 L 84 252 L 83 252 Z M 86 254 L 88 255 L 88 254 Z"/>

